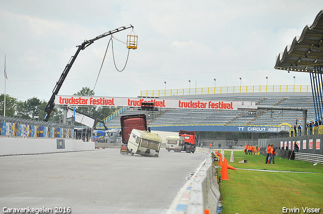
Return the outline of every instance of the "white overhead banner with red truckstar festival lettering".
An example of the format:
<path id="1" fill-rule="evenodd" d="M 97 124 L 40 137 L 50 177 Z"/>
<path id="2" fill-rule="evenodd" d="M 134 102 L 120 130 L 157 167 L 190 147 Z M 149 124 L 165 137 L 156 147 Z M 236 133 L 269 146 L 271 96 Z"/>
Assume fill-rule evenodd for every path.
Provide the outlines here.
<path id="1" fill-rule="evenodd" d="M 180 109 L 214 109 L 238 110 L 241 108 L 256 109 L 255 102 L 231 102 L 219 100 L 188 100 L 188 99 L 152 99 L 152 98 L 124 98 L 124 97 L 87 97 L 87 96 L 55 96 L 55 105 L 80 106 L 127 106 L 140 107 L 141 103 L 154 103 L 155 108 Z"/>

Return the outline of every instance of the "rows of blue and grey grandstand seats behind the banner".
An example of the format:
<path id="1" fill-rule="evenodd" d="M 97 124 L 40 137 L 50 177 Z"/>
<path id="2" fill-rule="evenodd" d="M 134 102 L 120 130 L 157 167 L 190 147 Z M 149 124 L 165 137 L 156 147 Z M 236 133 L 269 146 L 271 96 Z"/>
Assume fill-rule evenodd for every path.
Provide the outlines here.
<path id="1" fill-rule="evenodd" d="M 165 97 L 168 99 L 169 97 Z M 174 96 L 172 97 L 174 99 Z M 181 96 L 185 99 L 185 96 Z M 315 120 L 312 94 L 308 92 L 290 93 L 233 93 L 218 96 L 189 95 L 187 99 L 206 100 L 228 100 L 228 101 L 252 101 L 261 106 L 282 106 L 282 107 L 305 107 L 307 120 Z M 120 116 L 127 114 L 149 114 L 134 108 L 129 108 L 118 116 L 105 121 L 108 128 L 120 127 Z M 159 115 L 158 115 L 159 114 Z M 159 109 L 157 116 L 151 118 L 147 115 L 147 122 L 150 127 L 172 126 L 172 125 L 280 125 L 289 123 L 294 125 L 296 118 L 302 117 L 302 111 L 282 110 L 194 110 L 194 109 Z M 298 122 L 301 124 L 301 121 Z M 153 128 L 152 128 L 153 129 Z"/>

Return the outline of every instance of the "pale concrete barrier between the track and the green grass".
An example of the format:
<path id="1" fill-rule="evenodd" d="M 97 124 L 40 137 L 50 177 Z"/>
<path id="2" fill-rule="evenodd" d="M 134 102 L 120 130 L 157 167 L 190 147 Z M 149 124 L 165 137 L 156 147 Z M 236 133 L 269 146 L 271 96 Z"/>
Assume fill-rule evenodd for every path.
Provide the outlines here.
<path id="1" fill-rule="evenodd" d="M 210 213 L 217 213 L 220 191 L 211 150 L 196 148 L 196 152 L 207 153 L 207 157 L 204 166 L 192 181 L 190 199 L 184 213 L 203 214 L 205 209 L 209 209 Z"/>

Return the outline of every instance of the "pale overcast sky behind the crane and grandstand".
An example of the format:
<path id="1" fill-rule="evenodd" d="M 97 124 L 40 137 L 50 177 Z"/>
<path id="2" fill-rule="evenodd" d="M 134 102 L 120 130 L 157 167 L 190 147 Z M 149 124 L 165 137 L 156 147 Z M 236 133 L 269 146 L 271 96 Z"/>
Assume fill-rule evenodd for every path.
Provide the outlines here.
<path id="1" fill-rule="evenodd" d="M 141 90 L 216 86 L 310 85 L 309 74 L 274 69 L 276 56 L 311 25 L 322 1 L 4 1 L 0 0 L 0 65 L 7 54 L 6 93 L 48 101 L 77 45 L 133 25 L 138 49 L 123 72 L 110 43 L 96 96 L 137 97 Z M 126 42 L 131 29 L 113 36 Z M 75 60 L 59 95 L 93 89 L 110 36 Z M 127 59 L 114 40 L 118 69 Z M 2 76 L 3 77 L 3 76 Z M 188 82 L 191 80 L 191 83 Z M 0 78 L 4 93 L 4 78 Z M 190 85 L 189 85 L 190 84 Z"/>

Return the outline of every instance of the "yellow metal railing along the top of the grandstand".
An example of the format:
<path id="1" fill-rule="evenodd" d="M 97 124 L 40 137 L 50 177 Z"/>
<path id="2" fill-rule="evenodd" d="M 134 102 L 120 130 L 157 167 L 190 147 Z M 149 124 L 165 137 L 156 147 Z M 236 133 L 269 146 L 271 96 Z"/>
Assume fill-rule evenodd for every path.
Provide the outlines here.
<path id="1" fill-rule="evenodd" d="M 140 96 L 144 97 L 166 97 L 182 95 L 203 94 L 229 94 L 229 93 L 260 93 L 260 92 L 311 92 L 309 85 L 281 85 L 281 86 L 222 86 L 208 88 L 186 88 L 166 90 L 143 90 Z"/>

